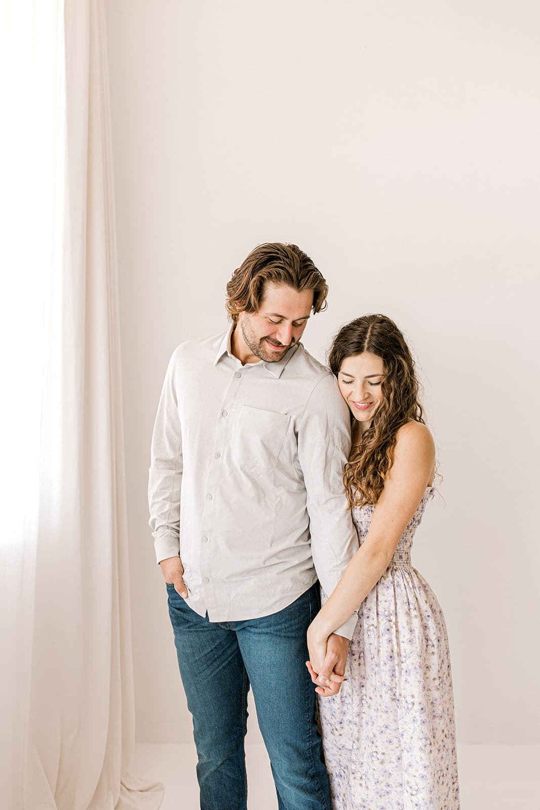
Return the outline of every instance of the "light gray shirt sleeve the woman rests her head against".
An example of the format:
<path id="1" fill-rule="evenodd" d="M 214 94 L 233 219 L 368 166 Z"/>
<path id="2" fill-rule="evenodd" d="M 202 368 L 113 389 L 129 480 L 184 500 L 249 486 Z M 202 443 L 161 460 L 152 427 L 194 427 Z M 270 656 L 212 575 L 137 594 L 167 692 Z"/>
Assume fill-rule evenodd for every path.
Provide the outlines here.
<path id="1" fill-rule="evenodd" d="M 309 396 L 298 427 L 298 458 L 304 475 L 313 564 L 330 596 L 358 551 L 358 535 L 343 486 L 351 450 L 351 416 L 333 374 L 323 377 Z M 336 633 L 352 637 L 357 614 Z"/>

